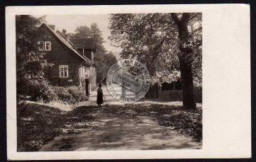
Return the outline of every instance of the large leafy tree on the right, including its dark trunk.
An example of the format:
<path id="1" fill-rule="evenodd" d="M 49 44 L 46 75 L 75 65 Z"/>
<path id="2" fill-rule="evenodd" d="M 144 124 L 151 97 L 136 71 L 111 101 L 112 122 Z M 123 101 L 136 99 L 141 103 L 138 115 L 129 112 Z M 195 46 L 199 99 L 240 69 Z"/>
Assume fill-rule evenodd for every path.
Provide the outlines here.
<path id="1" fill-rule="evenodd" d="M 144 63 L 153 83 L 181 78 L 183 103 L 193 103 L 193 81 L 201 81 L 201 20 L 201 13 L 112 14 L 109 39 L 123 49 L 122 58 Z"/>

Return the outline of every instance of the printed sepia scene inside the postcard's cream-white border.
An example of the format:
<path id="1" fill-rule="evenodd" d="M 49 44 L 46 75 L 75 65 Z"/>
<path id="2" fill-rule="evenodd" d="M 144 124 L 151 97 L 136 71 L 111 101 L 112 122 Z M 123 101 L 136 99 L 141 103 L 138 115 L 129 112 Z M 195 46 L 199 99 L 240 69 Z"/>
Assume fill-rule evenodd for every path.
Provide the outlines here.
<path id="1" fill-rule="evenodd" d="M 16 15 L 17 151 L 202 149 L 202 17 Z"/>

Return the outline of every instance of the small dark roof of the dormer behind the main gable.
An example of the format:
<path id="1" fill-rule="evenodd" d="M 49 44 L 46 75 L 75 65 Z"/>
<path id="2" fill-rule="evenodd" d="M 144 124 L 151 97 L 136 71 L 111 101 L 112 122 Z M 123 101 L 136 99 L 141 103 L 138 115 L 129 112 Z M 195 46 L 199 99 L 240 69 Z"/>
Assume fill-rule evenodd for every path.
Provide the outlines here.
<path id="1" fill-rule="evenodd" d="M 71 42 L 77 49 L 95 49 L 95 41 L 93 38 L 71 38 Z"/>

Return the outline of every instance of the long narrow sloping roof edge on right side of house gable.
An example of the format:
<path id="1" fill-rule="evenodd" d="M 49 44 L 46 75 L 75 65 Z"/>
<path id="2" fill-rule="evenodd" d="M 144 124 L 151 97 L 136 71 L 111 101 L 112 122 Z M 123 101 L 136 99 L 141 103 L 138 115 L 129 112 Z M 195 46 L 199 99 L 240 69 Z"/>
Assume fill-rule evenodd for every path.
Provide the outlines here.
<path id="1" fill-rule="evenodd" d="M 87 62 L 87 64 L 90 64 L 92 66 L 92 62 L 90 61 L 90 59 L 87 59 L 87 57 L 82 56 L 82 54 L 78 51 L 78 49 L 76 49 L 70 42 L 65 40 L 65 38 L 64 38 L 65 36 L 63 37 L 63 36 L 59 35 L 57 32 L 55 32 L 53 29 L 51 29 L 48 25 L 46 25 L 46 23 L 43 23 L 42 25 L 45 25 L 53 33 L 53 35 L 55 35 L 58 38 L 58 40 L 60 40 L 60 42 L 63 42 L 63 44 L 66 45 L 68 48 L 70 48 L 70 50 L 75 52 L 75 54 L 77 54 L 79 57 L 81 57 L 83 60 L 85 60 L 85 62 Z"/>

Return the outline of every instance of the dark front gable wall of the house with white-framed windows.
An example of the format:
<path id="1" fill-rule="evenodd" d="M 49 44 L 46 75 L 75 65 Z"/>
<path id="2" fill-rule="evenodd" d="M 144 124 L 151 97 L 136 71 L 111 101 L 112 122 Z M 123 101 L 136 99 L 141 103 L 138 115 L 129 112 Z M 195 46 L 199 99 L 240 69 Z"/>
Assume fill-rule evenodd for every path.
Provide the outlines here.
<path id="1" fill-rule="evenodd" d="M 44 53 L 43 59 L 53 63 L 53 66 L 45 67 L 44 77 L 53 84 L 53 86 L 78 86 L 80 85 L 82 73 L 80 69 L 88 70 L 92 66 L 89 59 L 82 56 L 72 43 L 60 37 L 58 33 L 50 29 L 48 25 L 43 24 L 38 29 L 41 35 L 37 37 L 37 42 L 50 42 L 50 50 L 39 50 Z"/>

